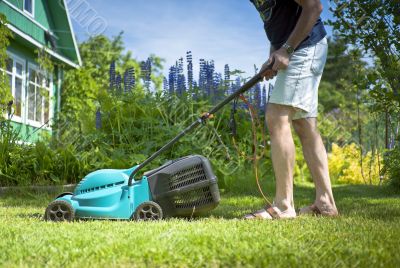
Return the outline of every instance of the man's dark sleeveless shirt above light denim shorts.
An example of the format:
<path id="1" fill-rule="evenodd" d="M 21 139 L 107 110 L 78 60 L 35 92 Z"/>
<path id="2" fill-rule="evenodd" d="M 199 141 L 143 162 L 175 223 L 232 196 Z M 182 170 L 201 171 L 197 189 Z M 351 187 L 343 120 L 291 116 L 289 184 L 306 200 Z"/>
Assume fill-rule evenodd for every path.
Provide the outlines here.
<path id="1" fill-rule="evenodd" d="M 257 8 L 264 21 L 264 29 L 271 45 L 279 49 L 288 39 L 297 21 L 302 8 L 294 0 L 250 0 Z M 319 18 L 311 33 L 296 48 L 312 46 L 326 36 L 324 24 Z"/>

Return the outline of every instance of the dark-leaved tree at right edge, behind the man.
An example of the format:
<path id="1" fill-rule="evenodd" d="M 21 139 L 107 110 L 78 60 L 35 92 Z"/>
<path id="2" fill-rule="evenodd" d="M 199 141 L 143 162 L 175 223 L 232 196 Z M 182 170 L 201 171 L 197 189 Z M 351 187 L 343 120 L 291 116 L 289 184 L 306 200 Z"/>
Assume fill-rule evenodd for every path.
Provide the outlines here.
<path id="1" fill-rule="evenodd" d="M 375 70 L 359 82 L 369 89 L 375 116 L 385 114 L 385 144 L 387 149 L 392 149 L 399 135 L 400 3 L 391 0 L 331 2 L 335 4 L 331 8 L 335 15 L 330 21 L 333 30 L 345 42 L 375 58 Z M 360 78 L 356 72 L 353 73 Z M 397 147 L 386 154 L 386 165 L 392 162 L 391 155 L 398 155 L 398 151 Z M 397 164 L 392 166 L 397 166 L 398 170 Z M 393 180 L 396 172 L 389 173 Z"/>

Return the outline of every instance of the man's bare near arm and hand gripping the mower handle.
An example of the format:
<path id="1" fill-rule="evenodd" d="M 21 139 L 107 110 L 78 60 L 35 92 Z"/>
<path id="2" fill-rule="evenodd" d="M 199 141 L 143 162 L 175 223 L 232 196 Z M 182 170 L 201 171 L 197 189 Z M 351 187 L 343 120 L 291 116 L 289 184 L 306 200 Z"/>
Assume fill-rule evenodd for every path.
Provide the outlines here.
<path id="1" fill-rule="evenodd" d="M 296 27 L 290 34 L 287 43 L 293 48 L 297 48 L 300 43 L 306 39 L 322 13 L 322 4 L 320 0 L 294 0 L 302 7 L 302 12 Z M 272 47 L 271 47 L 272 51 Z M 286 49 L 280 48 L 271 53 L 269 60 L 263 65 L 268 66 L 274 60 L 273 70 L 278 71 L 286 69 L 289 65 L 289 54 Z M 268 78 L 266 76 L 266 78 Z"/>

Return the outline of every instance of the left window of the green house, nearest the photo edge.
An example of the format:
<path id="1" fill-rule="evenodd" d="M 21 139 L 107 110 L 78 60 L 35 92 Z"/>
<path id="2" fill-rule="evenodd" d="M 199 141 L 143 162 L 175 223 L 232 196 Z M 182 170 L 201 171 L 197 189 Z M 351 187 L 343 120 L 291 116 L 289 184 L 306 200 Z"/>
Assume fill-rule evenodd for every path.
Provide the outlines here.
<path id="1" fill-rule="evenodd" d="M 15 105 L 11 111 L 14 121 L 22 122 L 23 117 L 23 96 L 25 93 L 25 62 L 15 56 L 9 56 L 6 60 L 6 74 L 10 83 L 10 91 Z"/>

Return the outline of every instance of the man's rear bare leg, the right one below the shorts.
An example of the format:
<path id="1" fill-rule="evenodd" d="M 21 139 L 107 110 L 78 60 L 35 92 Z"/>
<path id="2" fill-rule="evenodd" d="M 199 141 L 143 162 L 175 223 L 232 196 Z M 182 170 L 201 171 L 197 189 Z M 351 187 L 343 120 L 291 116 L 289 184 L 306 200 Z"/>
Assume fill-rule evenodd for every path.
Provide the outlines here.
<path id="1" fill-rule="evenodd" d="M 315 183 L 316 198 L 314 205 L 323 214 L 337 215 L 329 178 L 328 157 L 317 129 L 317 119 L 294 120 L 293 127 L 300 137 L 304 158 Z"/>

